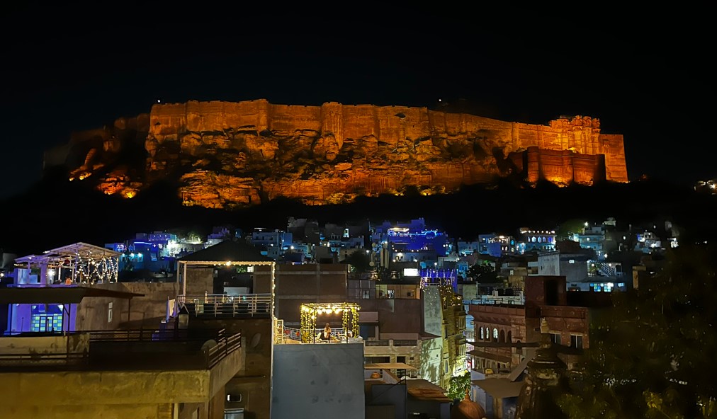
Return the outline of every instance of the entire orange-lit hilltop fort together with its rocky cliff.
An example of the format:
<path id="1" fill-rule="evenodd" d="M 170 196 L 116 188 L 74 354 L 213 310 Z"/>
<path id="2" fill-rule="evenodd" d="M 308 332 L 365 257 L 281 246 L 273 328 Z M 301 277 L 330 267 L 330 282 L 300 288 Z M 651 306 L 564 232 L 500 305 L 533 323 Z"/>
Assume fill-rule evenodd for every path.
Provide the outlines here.
<path id="1" fill-rule="evenodd" d="M 627 182 L 622 135 L 602 135 L 599 120 L 580 116 L 545 126 L 425 107 L 186 102 L 154 105 L 73 142 L 72 178 L 128 198 L 170 179 L 186 205 L 208 208 L 279 196 L 338 203 L 407 186 L 452 191 L 511 174 Z"/>

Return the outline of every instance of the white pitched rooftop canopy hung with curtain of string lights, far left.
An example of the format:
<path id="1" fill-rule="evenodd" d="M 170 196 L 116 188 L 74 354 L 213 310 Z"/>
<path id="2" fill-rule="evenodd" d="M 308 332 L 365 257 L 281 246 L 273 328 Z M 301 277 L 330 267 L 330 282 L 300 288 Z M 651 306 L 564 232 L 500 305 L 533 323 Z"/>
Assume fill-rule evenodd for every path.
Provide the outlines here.
<path id="1" fill-rule="evenodd" d="M 52 283 L 55 274 L 62 278 L 63 269 L 72 271 L 72 282 L 94 284 L 117 282 L 120 255 L 118 251 L 80 242 L 17 258 L 15 264 L 27 269 L 39 268 L 39 283 L 43 285 Z"/>

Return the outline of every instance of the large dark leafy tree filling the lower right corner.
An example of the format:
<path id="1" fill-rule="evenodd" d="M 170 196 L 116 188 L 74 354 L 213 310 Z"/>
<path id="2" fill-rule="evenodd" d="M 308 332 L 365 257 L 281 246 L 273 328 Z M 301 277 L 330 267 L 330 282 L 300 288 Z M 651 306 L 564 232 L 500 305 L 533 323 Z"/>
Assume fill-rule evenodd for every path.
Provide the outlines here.
<path id="1" fill-rule="evenodd" d="M 559 403 L 570 418 L 717 418 L 717 251 L 680 246 L 614 292 Z"/>

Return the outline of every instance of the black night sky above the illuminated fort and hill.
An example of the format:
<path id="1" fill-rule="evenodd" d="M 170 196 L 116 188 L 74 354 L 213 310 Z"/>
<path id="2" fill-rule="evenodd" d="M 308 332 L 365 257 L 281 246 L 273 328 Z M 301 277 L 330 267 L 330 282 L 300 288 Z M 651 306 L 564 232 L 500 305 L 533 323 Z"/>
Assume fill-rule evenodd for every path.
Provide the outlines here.
<path id="1" fill-rule="evenodd" d="M 157 99 L 432 107 L 463 98 L 508 121 L 590 115 L 625 136 L 631 180 L 717 177 L 704 12 L 343 4 L 323 16 L 154 5 L 3 12 L 0 198 L 39 180 L 43 151 L 72 131 L 149 112 Z"/>

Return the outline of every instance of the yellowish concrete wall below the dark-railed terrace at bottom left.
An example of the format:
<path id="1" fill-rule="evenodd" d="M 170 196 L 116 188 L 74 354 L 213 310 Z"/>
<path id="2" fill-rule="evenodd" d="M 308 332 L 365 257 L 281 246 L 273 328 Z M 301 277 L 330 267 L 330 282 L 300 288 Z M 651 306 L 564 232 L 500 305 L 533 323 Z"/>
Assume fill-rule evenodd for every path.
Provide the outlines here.
<path id="1" fill-rule="evenodd" d="M 208 418 L 210 400 L 224 398 L 224 383 L 241 368 L 237 350 L 212 370 L 4 372 L 2 418 L 170 419 L 175 403 L 204 405 L 200 418 Z"/>

